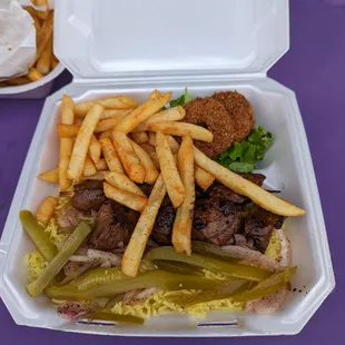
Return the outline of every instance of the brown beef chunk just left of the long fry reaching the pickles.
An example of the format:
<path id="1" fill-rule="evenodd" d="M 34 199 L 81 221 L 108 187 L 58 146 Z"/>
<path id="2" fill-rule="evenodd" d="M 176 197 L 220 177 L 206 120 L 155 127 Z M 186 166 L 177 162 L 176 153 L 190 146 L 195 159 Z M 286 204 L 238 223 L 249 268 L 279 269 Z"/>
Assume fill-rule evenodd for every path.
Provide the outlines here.
<path id="1" fill-rule="evenodd" d="M 89 244 L 100 250 L 116 249 L 128 244 L 139 215 L 116 201 L 107 200 L 100 207 Z"/>

